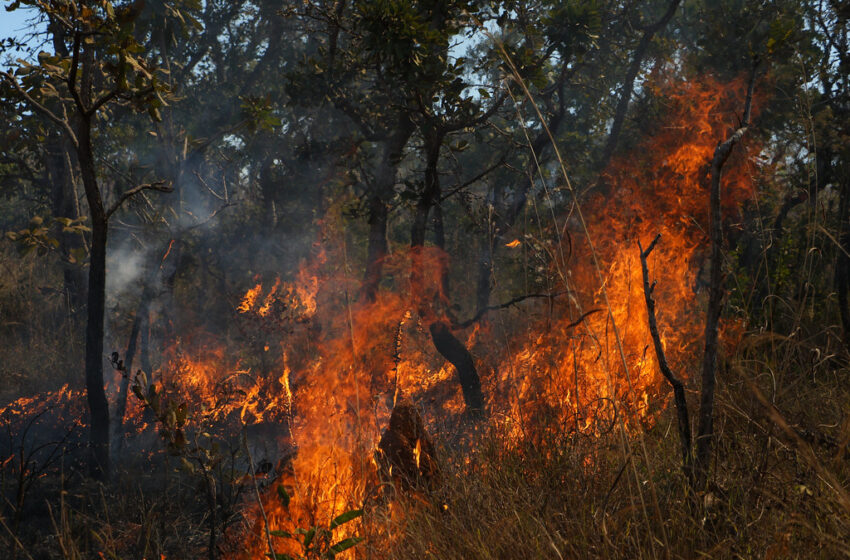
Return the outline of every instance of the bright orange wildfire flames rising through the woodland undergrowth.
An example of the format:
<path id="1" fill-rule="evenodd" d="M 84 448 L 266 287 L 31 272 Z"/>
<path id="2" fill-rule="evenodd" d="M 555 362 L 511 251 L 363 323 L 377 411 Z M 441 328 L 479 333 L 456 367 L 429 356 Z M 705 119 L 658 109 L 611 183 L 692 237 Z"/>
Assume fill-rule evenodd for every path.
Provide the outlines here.
<path id="1" fill-rule="evenodd" d="M 651 350 L 638 240 L 648 243 L 662 234 L 649 264 L 658 280 L 658 324 L 668 358 L 687 377 L 685 366 L 701 348 L 708 163 L 734 125 L 732 111 L 741 104 L 744 84 L 703 79 L 649 87 L 663 91 L 659 98 L 669 106 L 663 126 L 638 147 L 642 157 L 611 164 L 605 191 L 583 205 L 587 231 L 569 216 L 553 226 L 574 232 L 569 258 L 551 259 L 546 271 L 562 282 L 564 296 L 546 306 L 527 305 L 525 314 L 506 311 L 513 313 L 509 320 L 494 317 L 489 325 L 456 330 L 478 360 L 489 421 L 509 438 L 538 437 L 554 426 L 601 432 L 617 420 L 635 428 L 651 423 L 653 409 L 665 406 L 669 391 Z M 752 193 L 746 166 L 736 157 L 724 172 L 727 211 Z M 505 247 L 522 243 L 532 250 L 536 242 L 550 255 L 567 251 L 565 241 L 559 246 L 557 240 L 523 239 Z M 447 260 L 426 247 L 397 251 L 384 266 L 388 276 L 411 278 L 412 266 L 440 271 Z M 324 247 L 292 282 L 277 278 L 267 290 L 257 282 L 241 298 L 240 320 L 287 329 L 279 353 L 268 341 L 260 346 L 273 354 L 267 371 L 233 358 L 224 344 L 184 339 L 165 349 L 153 376 L 190 400 L 204 421 L 285 427 L 280 438 L 294 455 L 279 476 L 292 498 L 287 506 L 273 491 L 263 498 L 272 529 L 327 523 L 374 495 L 375 451 L 402 396 L 422 405 L 432 433 L 469 425 L 462 421 L 464 400 L 454 367 L 427 335 L 431 322 L 447 320 L 440 275 L 423 275 L 413 289 L 397 282 L 374 301 L 362 301 L 354 275 L 332 264 L 339 262 L 345 262 L 342 249 Z M 494 325 L 508 332 L 506 342 L 493 334 Z M 82 400 L 67 387 L 49 398 Z M 19 399 L 0 409 L 0 417 L 16 418 L 32 406 L 31 399 Z M 128 424 L 143 426 L 142 417 L 132 399 Z M 421 441 L 413 452 L 418 467 Z M 246 557 L 267 552 L 262 524 L 257 515 L 249 534 L 236 537 L 247 541 Z M 337 532 L 343 538 L 360 529 L 352 523 Z M 276 543 L 278 553 L 285 548 Z"/>

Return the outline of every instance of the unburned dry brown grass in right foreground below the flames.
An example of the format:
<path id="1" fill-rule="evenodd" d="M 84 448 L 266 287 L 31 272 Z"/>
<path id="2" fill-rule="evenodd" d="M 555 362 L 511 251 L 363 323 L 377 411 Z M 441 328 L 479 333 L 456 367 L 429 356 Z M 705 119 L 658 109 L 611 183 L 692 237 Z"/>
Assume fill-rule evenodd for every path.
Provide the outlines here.
<path id="1" fill-rule="evenodd" d="M 801 358 L 800 348 L 788 341 L 776 350 L 793 362 Z M 490 434 L 469 464 L 445 451 L 448 473 L 437 494 L 408 495 L 378 513 L 381 532 L 392 535 L 392 544 L 389 551 L 384 544 L 373 552 L 399 560 L 850 555 L 850 511 L 824 475 L 845 488 L 850 482 L 850 395 L 844 383 L 850 370 L 834 360 L 812 371 L 785 364 L 796 367 L 786 370 L 774 402 L 812 439 L 803 442 L 809 454 L 754 396 L 753 381 L 762 391 L 772 385 L 759 368 L 742 367 L 754 351 L 730 359 L 721 375 L 718 448 L 708 492 L 694 495 L 681 474 L 672 409 L 645 434 L 655 478 L 642 483 L 655 484 L 661 520 L 650 515 L 646 522 L 614 436 L 558 434 L 537 446 L 508 448 Z M 662 523 L 669 548 L 662 545 Z"/>

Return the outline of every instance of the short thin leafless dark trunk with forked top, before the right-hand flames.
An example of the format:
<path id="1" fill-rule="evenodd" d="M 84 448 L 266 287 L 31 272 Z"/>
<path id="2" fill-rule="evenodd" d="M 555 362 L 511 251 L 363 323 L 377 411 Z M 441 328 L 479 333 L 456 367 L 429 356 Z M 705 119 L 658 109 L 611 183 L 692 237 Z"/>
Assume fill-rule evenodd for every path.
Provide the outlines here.
<path id="1" fill-rule="evenodd" d="M 667 356 L 664 354 L 664 346 L 661 344 L 661 336 L 658 334 L 658 322 L 655 319 L 655 300 L 652 299 L 652 292 L 655 289 L 655 281 L 649 283 L 649 267 L 646 264 L 646 259 L 655 248 L 658 240 L 661 239 L 661 234 L 655 236 L 652 243 L 646 250 L 638 241 L 640 249 L 640 266 L 643 271 L 643 295 L 646 298 L 646 313 L 649 318 L 649 334 L 652 336 L 652 343 L 655 346 L 655 356 L 658 358 L 658 367 L 661 369 L 661 374 L 673 387 L 673 402 L 676 404 L 676 416 L 679 422 L 679 443 L 682 446 L 682 470 L 689 482 L 693 482 L 693 459 L 691 452 L 691 422 L 688 414 L 688 401 L 685 399 L 685 386 L 682 381 L 676 377 L 670 365 L 667 363 Z"/>

